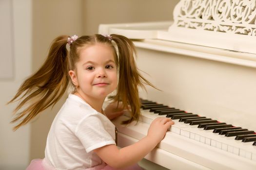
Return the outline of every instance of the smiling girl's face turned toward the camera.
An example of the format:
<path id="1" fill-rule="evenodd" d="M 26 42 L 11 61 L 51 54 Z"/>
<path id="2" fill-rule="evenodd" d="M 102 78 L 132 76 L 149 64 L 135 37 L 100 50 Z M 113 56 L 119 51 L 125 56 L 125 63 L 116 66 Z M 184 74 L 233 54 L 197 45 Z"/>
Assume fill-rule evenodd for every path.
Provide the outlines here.
<path id="1" fill-rule="evenodd" d="M 117 88 L 118 76 L 113 50 L 97 43 L 80 50 L 77 71 L 70 70 L 77 91 L 86 98 L 104 99 Z"/>

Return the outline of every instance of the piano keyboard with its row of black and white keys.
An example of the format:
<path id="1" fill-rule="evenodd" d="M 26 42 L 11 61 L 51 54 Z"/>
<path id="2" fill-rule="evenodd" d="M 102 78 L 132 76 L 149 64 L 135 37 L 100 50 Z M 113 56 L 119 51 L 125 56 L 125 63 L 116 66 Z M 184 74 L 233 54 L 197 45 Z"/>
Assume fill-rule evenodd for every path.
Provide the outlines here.
<path id="1" fill-rule="evenodd" d="M 151 121 L 156 118 L 156 116 L 165 116 L 167 118 L 171 118 L 172 120 L 175 120 L 175 125 L 172 126 L 171 132 L 174 132 L 181 136 L 186 136 L 194 140 L 198 140 L 202 143 L 217 147 L 224 151 L 234 153 L 248 159 L 252 159 L 253 153 L 250 152 L 250 150 L 246 151 L 250 149 L 250 147 L 246 149 L 245 146 L 256 146 L 256 133 L 254 131 L 241 127 L 234 127 L 231 124 L 226 124 L 225 122 L 218 122 L 217 120 L 205 118 L 193 113 L 187 113 L 183 110 L 179 110 L 174 107 L 164 106 L 163 104 L 158 104 L 156 102 L 151 102 L 148 100 L 141 100 L 141 103 L 141 107 L 143 110 L 149 110 L 149 112 L 151 112 L 151 114 L 142 114 L 143 117 L 148 118 L 146 120 L 150 120 L 147 123 L 150 124 Z M 143 111 L 143 113 L 145 112 Z M 207 135 L 197 136 L 197 134 L 201 134 L 201 132 Z M 223 135 L 226 137 L 218 136 L 215 134 Z M 216 140 L 216 138 L 219 138 L 220 140 L 218 141 Z M 238 140 L 238 142 L 236 142 L 235 140 Z M 232 144 L 240 144 L 240 141 L 248 142 L 248 144 L 242 144 L 241 148 L 234 149 L 234 147 L 232 147 Z M 256 147 L 254 147 L 254 149 L 256 149 Z"/>

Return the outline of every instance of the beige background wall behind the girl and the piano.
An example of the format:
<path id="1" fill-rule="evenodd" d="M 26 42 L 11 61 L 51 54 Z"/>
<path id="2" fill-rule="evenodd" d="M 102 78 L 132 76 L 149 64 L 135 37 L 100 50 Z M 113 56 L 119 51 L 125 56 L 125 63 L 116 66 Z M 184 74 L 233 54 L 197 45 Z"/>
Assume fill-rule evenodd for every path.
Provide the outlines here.
<path id="1" fill-rule="evenodd" d="M 20 83 L 44 62 L 50 43 L 60 34 L 95 34 L 100 23 L 172 20 L 178 0 L 13 0 L 15 80 L 0 81 L 0 169 L 21 170 L 43 158 L 47 134 L 66 94 L 32 123 L 12 132 L 11 111 L 4 104 Z"/>

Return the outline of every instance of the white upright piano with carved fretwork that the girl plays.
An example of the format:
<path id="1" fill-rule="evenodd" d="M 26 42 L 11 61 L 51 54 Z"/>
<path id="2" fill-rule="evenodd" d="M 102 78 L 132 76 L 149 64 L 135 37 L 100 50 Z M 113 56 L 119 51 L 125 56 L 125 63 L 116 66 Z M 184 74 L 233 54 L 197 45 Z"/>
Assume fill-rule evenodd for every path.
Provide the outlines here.
<path id="1" fill-rule="evenodd" d="M 102 24 L 99 34 L 133 40 L 138 68 L 162 90 L 141 90 L 142 99 L 256 132 L 255 3 L 180 0 L 174 21 Z M 119 147 L 138 141 L 153 119 L 166 116 L 141 113 L 138 123 L 121 125 L 126 115 L 113 121 Z M 171 170 L 256 170 L 254 141 L 174 121 L 146 160 Z"/>

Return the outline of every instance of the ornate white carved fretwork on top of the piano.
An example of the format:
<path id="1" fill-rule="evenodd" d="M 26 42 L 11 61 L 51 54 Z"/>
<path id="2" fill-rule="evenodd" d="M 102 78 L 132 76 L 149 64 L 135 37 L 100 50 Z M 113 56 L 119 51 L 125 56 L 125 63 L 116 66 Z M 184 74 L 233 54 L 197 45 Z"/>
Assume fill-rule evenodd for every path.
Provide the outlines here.
<path id="1" fill-rule="evenodd" d="M 256 0 L 180 0 L 174 26 L 256 36 Z"/>

